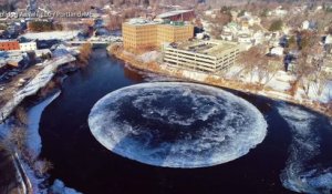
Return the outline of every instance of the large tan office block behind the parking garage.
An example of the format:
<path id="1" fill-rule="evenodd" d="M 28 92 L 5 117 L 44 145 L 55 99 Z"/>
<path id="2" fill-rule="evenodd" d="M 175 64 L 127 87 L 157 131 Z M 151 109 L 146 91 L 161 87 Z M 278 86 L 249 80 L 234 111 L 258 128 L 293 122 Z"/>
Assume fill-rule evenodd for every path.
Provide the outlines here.
<path id="1" fill-rule="evenodd" d="M 174 21 L 132 19 L 123 23 L 123 42 L 126 50 L 160 48 L 163 43 L 186 41 L 194 37 L 194 25 Z"/>

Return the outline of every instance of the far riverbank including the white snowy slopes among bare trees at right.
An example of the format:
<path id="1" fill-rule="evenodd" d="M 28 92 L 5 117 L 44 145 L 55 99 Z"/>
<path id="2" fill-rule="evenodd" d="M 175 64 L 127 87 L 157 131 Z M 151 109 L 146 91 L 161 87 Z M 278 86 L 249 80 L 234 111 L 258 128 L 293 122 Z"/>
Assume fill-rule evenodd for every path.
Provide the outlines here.
<path id="1" fill-rule="evenodd" d="M 317 86 L 311 84 L 309 91 L 307 92 L 308 94 L 305 94 L 303 89 L 298 89 L 297 93 L 292 95 L 289 90 L 291 88 L 291 82 L 294 80 L 294 76 L 283 71 L 278 71 L 273 76 L 270 78 L 270 80 L 267 80 L 267 78 L 259 79 L 259 74 L 255 72 L 252 73 L 252 75 L 243 74 L 240 67 L 232 67 L 226 74 L 217 75 L 173 68 L 165 63 L 157 62 L 158 60 L 146 62 L 146 55 L 152 55 L 147 53 L 135 55 L 122 50 L 112 51 L 111 47 L 108 48 L 108 52 L 111 54 L 114 54 L 116 58 L 125 61 L 133 68 L 143 71 L 149 71 L 167 76 L 200 82 L 215 86 L 228 88 L 256 95 L 267 96 L 274 100 L 291 102 L 332 116 L 331 110 L 329 110 L 329 108 L 326 106 L 326 103 L 332 101 L 331 81 L 326 82 L 321 93 L 318 92 Z M 156 54 L 157 53 L 154 53 L 154 55 Z M 158 57 L 154 57 L 153 59 L 157 58 Z"/>

